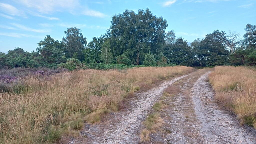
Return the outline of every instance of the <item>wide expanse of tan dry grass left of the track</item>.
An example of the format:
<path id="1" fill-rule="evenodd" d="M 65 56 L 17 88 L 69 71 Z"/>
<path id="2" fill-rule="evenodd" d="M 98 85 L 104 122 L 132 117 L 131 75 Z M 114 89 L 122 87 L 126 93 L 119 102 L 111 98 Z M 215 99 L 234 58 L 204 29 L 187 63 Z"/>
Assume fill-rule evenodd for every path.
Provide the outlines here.
<path id="1" fill-rule="evenodd" d="M 7 81 L 10 89 L 0 92 L 0 143 L 54 143 L 59 136 L 79 136 L 83 121 L 100 122 L 135 90 L 152 86 L 163 79 L 160 76 L 192 71 L 184 66 L 88 69 Z"/>

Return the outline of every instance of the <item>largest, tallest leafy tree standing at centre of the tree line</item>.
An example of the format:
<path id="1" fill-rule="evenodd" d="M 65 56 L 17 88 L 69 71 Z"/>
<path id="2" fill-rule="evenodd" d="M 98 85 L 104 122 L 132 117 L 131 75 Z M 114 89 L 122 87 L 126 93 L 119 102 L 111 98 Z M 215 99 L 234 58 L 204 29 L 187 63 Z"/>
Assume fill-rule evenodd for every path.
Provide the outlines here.
<path id="1" fill-rule="evenodd" d="M 140 65 L 146 53 L 162 51 L 167 21 L 156 17 L 148 8 L 146 11 L 140 9 L 138 14 L 126 10 L 123 14 L 114 15 L 111 23 L 110 44 L 114 56 L 128 53 Z"/>

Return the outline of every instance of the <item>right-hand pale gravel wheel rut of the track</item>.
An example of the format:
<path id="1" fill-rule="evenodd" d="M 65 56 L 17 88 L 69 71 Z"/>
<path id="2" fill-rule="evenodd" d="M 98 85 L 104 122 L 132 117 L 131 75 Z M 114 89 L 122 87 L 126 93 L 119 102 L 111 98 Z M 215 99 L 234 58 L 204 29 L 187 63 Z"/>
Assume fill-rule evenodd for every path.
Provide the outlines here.
<path id="1" fill-rule="evenodd" d="M 256 143 L 250 132 L 213 103 L 214 93 L 206 82 L 208 74 L 201 76 L 192 90 L 197 119 L 201 125 L 200 135 L 205 137 L 205 143 Z"/>

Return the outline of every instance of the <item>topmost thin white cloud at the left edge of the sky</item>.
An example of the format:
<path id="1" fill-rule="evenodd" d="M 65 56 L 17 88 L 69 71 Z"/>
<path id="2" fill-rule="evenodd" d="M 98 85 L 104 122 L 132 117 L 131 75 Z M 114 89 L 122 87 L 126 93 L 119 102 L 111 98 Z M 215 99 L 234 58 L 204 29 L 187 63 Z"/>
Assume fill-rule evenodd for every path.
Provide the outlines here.
<path id="1" fill-rule="evenodd" d="M 3 13 L 6 13 L 6 14 L 12 15 L 12 16 L 25 17 L 25 14 L 23 11 L 20 11 L 16 7 L 9 5 L 9 4 L 0 3 L 0 11 L 2 11 Z"/>

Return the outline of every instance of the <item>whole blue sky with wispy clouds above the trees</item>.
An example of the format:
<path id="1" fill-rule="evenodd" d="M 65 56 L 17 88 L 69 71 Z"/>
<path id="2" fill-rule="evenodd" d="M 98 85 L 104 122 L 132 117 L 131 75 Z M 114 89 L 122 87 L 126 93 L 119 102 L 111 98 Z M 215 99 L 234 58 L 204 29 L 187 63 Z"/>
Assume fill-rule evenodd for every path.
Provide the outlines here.
<path id="1" fill-rule="evenodd" d="M 1 0 L 0 51 L 35 51 L 46 35 L 60 41 L 70 27 L 90 42 L 111 26 L 113 15 L 147 7 L 167 20 L 166 32 L 174 30 L 187 42 L 217 29 L 242 38 L 247 24 L 256 25 L 256 0 Z"/>

